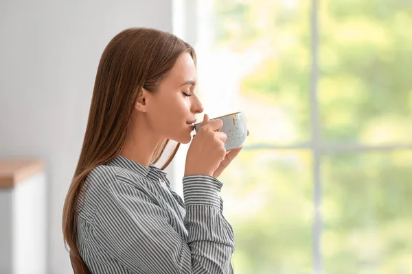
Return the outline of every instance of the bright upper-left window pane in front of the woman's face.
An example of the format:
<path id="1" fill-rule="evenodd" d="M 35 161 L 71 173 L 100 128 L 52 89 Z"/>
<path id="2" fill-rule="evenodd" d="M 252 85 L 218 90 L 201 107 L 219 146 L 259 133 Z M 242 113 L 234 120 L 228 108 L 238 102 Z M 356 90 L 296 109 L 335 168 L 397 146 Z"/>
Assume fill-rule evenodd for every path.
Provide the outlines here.
<path id="1" fill-rule="evenodd" d="M 308 142 L 309 1 L 198 3 L 198 91 L 205 111 L 244 111 L 249 144 Z"/>

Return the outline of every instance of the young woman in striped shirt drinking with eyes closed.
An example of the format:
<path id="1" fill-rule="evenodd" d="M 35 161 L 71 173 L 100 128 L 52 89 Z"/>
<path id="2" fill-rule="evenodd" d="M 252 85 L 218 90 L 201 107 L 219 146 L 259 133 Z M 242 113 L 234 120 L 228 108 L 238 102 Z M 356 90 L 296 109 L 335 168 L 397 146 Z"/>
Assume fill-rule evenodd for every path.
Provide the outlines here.
<path id="1" fill-rule="evenodd" d="M 184 202 L 163 171 L 203 112 L 195 85 L 194 49 L 172 34 L 126 29 L 104 50 L 62 219 L 91 273 L 233 273 L 217 178 L 240 149 L 225 151 L 222 121 L 205 114 L 190 144 Z M 169 140 L 176 148 L 159 169 Z"/>

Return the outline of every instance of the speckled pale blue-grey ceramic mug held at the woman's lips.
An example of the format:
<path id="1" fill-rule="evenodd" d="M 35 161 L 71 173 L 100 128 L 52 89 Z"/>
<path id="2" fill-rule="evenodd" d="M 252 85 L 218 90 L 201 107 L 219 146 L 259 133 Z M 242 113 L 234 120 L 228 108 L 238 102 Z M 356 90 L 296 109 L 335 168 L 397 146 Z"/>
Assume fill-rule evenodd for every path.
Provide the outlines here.
<path id="1" fill-rule="evenodd" d="M 244 141 L 247 138 L 247 121 L 243 112 L 236 112 L 232 114 L 227 114 L 224 116 L 216 117 L 213 120 L 222 120 L 223 126 L 220 132 L 225 132 L 227 135 L 227 140 L 225 142 L 225 149 L 227 151 L 231 149 L 236 149 L 242 147 Z M 197 123 L 194 125 L 194 129 L 198 132 L 201 128 L 202 123 Z"/>

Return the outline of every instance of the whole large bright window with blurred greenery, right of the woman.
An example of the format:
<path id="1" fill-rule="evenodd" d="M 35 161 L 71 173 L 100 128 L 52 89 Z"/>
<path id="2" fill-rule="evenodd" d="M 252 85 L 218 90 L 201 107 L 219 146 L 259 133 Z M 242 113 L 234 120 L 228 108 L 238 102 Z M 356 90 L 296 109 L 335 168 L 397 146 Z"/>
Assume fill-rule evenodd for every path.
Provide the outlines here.
<path id="1" fill-rule="evenodd" d="M 412 2 L 179 2 L 205 112 L 251 130 L 220 178 L 236 273 L 412 273 Z"/>

